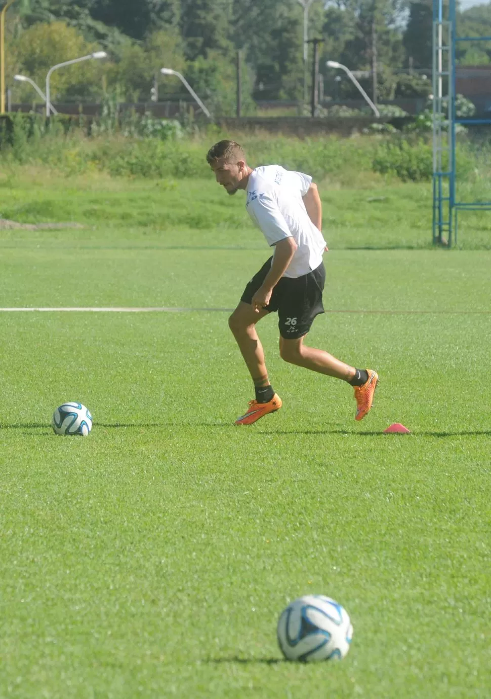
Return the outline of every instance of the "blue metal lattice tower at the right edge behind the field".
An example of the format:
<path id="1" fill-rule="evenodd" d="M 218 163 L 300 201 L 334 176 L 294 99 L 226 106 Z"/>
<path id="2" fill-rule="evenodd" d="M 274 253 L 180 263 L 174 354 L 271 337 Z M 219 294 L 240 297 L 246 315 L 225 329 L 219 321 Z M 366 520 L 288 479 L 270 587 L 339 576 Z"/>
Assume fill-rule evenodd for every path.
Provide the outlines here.
<path id="1" fill-rule="evenodd" d="M 460 210 L 491 210 L 491 201 L 459 201 L 456 192 L 455 127 L 491 124 L 491 119 L 455 114 L 455 45 L 491 41 L 491 36 L 458 36 L 456 0 L 433 0 L 433 243 L 457 242 Z"/>

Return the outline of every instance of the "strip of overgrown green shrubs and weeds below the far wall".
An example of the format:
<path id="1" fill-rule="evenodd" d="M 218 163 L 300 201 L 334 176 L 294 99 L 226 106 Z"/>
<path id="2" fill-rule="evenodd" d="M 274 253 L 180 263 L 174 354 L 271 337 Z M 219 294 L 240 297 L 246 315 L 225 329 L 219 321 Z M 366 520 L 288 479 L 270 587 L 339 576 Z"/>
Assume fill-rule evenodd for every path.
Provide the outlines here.
<path id="1" fill-rule="evenodd" d="M 383 131 L 358 138 L 335 136 L 286 138 L 239 136 L 254 165 L 276 162 L 304 171 L 317 180 L 346 183 L 360 173 L 378 173 L 420 182 L 432 178 L 432 146 L 427 137 Z M 175 120 L 127 113 L 122 119 L 110 108 L 100 120 L 87 117 L 7 115 L 0 117 L 0 150 L 4 163 L 43 164 L 64 175 L 105 171 L 113 176 L 144 178 L 207 178 L 207 148 L 220 138 L 216 126 L 183 127 Z M 478 155 L 470 140 L 460 140 L 457 171 L 467 179 L 483 178 L 489 170 L 485 157 L 491 145 L 482 144 Z"/>

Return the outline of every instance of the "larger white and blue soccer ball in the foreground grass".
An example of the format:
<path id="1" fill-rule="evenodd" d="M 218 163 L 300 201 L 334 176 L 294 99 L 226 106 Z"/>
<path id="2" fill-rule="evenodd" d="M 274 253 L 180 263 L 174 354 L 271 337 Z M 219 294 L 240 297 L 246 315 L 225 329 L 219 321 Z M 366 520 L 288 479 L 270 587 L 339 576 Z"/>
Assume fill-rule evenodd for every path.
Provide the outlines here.
<path id="1" fill-rule="evenodd" d="M 306 595 L 291 602 L 278 621 L 278 643 L 287 660 L 344 658 L 353 637 L 348 613 L 335 600 Z"/>

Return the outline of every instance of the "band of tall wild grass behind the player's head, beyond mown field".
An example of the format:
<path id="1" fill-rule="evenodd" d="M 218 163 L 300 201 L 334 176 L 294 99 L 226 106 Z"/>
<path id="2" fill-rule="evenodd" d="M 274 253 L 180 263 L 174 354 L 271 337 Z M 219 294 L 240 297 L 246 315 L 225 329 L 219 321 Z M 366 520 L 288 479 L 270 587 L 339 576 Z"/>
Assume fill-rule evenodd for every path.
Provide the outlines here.
<path id="1" fill-rule="evenodd" d="M 25 134 L 15 130 L 11 145 L 0 152 L 0 164 L 15 169 L 42 165 L 64 176 L 101 171 L 129 178 L 207 178 L 207 149 L 221 138 L 234 138 L 247 150 L 253 166 L 278 163 L 305 171 L 331 185 L 362 187 L 376 176 L 404 182 L 432 178 L 432 147 L 413 134 L 360 135 L 353 138 L 316 136 L 288 138 L 271 134 L 241 134 L 217 127 L 188 133 L 159 129 L 151 137 L 111 134 L 99 130 L 87 136 L 82 129 L 64 133 L 51 129 Z M 467 186 L 487 182 L 491 175 L 491 141 L 460 140 L 457 174 Z"/>

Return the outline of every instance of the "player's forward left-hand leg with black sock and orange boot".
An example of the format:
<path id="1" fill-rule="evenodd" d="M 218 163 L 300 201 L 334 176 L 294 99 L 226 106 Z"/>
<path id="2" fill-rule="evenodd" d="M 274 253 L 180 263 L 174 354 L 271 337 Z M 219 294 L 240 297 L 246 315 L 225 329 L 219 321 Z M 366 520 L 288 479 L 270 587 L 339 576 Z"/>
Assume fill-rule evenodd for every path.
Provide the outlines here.
<path id="1" fill-rule="evenodd" d="M 228 326 L 239 345 L 256 389 L 256 400 L 250 401 L 249 409 L 245 415 L 237 418 L 235 424 L 252 424 L 263 415 L 268 415 L 268 412 L 281 408 L 281 398 L 272 390 L 263 345 L 256 332 L 256 323 L 266 315 L 269 315 L 269 311 L 256 312 L 249 303 L 240 301 L 228 319 Z M 261 399 L 261 394 L 265 398 L 264 401 Z"/>

